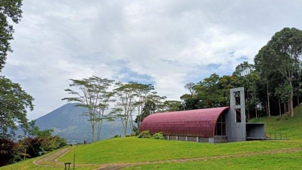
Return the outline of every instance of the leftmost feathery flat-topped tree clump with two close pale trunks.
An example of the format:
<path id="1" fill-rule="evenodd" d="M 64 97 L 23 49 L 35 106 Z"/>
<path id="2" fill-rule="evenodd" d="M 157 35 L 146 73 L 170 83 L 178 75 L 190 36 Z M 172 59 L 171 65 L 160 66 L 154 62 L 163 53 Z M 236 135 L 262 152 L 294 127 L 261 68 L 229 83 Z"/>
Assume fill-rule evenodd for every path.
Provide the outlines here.
<path id="1" fill-rule="evenodd" d="M 62 100 L 68 102 L 78 102 L 75 106 L 81 106 L 87 108 L 87 112 L 84 112 L 84 116 L 88 116 L 92 130 L 92 142 L 95 138 L 95 126 L 97 126 L 97 139 L 101 138 L 101 126 L 104 120 L 104 111 L 108 109 L 109 103 L 114 101 L 110 98 L 114 95 L 113 92 L 108 91 L 108 88 L 114 82 L 109 79 L 101 79 L 97 76 L 92 76 L 88 79 L 75 80 L 69 84 L 73 89 L 65 89 L 68 94 L 73 97 L 66 97 Z M 79 92 L 78 92 L 79 91 Z"/>

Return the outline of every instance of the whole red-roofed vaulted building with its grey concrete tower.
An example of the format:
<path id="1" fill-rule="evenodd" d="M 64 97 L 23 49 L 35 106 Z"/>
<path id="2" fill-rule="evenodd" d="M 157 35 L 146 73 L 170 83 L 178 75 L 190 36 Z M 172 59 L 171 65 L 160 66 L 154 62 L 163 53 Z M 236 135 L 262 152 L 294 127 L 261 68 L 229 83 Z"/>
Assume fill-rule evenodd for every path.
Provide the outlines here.
<path id="1" fill-rule="evenodd" d="M 244 103 L 244 88 L 234 88 L 230 106 L 152 114 L 139 131 L 162 132 L 168 140 L 210 143 L 265 139 L 265 124 L 248 123 Z"/>

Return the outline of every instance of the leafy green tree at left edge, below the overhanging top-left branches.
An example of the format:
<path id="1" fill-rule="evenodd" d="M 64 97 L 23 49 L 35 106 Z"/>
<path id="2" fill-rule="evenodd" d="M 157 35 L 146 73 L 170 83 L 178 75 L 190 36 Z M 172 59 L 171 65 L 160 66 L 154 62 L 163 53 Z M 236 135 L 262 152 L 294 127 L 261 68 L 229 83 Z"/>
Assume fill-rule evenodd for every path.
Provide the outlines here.
<path id="1" fill-rule="evenodd" d="M 0 76 L 0 87 L 0 137 L 8 137 L 9 130 L 17 129 L 16 123 L 26 126 L 27 109 L 33 110 L 34 98 L 4 76 Z"/>

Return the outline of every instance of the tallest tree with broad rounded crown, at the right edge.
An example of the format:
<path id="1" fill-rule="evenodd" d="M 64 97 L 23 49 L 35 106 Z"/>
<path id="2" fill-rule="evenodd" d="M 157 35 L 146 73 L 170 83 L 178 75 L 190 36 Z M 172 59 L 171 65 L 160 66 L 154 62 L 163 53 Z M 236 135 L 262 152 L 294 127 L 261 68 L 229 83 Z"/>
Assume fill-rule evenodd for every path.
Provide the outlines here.
<path id="1" fill-rule="evenodd" d="M 302 31 L 296 28 L 283 28 L 276 32 L 271 40 L 261 48 L 257 55 L 260 60 L 255 60 L 264 72 L 273 70 L 279 72 L 289 87 L 292 89 L 288 98 L 288 111 L 293 117 L 293 85 L 292 82 L 300 73 L 302 55 Z"/>

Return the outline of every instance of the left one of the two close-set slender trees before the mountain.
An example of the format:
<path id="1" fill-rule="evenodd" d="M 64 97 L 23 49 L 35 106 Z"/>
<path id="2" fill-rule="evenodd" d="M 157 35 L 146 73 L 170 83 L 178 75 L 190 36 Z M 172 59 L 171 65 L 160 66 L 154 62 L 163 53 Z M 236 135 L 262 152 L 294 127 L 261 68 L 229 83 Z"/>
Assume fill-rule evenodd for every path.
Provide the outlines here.
<path id="1" fill-rule="evenodd" d="M 70 79 L 71 84 L 69 84 L 69 87 L 77 87 L 80 92 L 72 89 L 65 89 L 65 91 L 68 92 L 68 94 L 71 94 L 75 97 L 66 97 L 62 98 L 62 100 L 67 100 L 68 102 L 78 102 L 77 107 L 85 107 L 87 108 L 88 112 L 83 113 L 83 116 L 88 116 L 91 125 L 92 130 L 92 142 L 94 142 L 95 138 L 95 125 L 98 122 L 97 117 L 97 110 L 96 110 L 96 103 L 98 103 L 99 96 L 95 93 L 95 86 L 94 86 L 94 79 L 88 78 L 88 79 L 81 79 L 81 80 L 75 80 Z"/>

